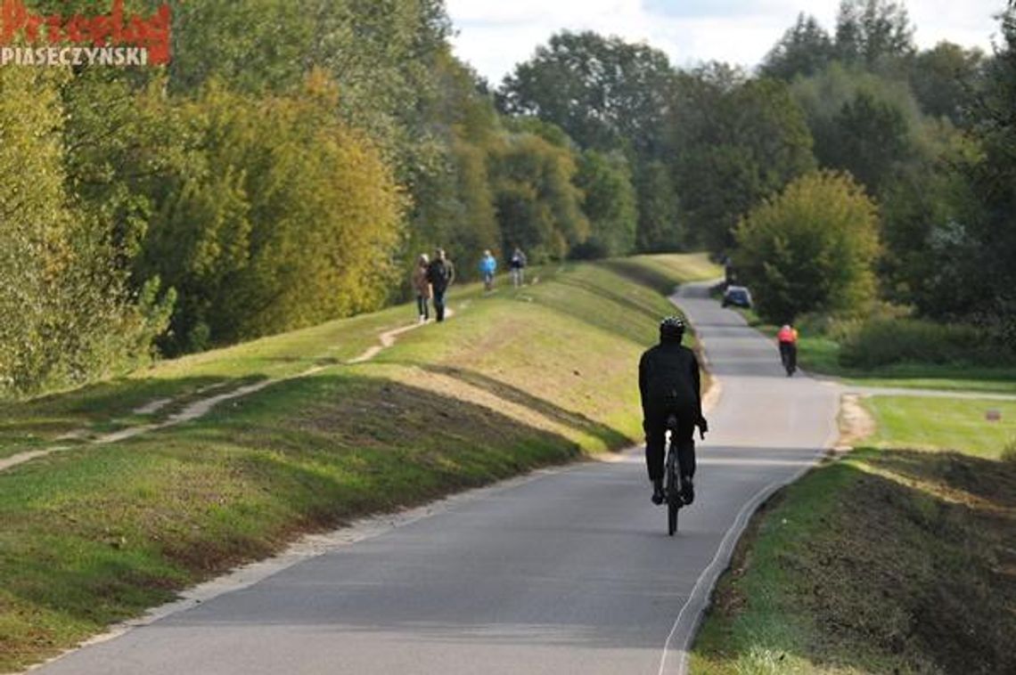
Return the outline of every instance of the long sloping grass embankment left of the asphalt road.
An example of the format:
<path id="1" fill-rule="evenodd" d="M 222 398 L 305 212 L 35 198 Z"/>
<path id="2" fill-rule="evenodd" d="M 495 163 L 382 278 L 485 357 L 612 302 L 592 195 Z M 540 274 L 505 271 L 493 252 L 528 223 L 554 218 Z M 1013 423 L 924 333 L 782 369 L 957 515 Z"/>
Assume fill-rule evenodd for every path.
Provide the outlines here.
<path id="1" fill-rule="evenodd" d="M 697 257 L 660 260 L 653 274 L 672 284 L 701 268 Z M 5 406 L 11 454 L 26 433 L 39 445 L 129 424 L 151 398 L 327 366 L 193 422 L 0 472 L 0 672 L 301 533 L 632 443 L 635 363 L 673 307 L 617 269 L 545 269 L 538 284 L 502 282 L 490 296 L 460 289 L 452 321 L 405 333 L 366 363 L 340 362 L 410 323 L 412 309 Z"/>

